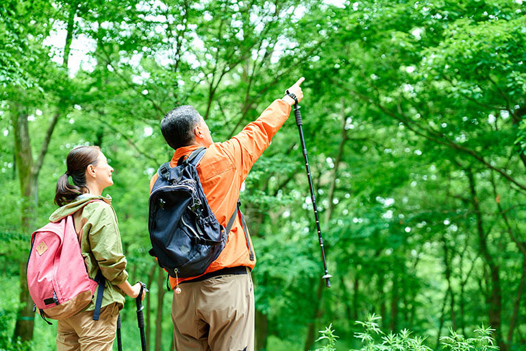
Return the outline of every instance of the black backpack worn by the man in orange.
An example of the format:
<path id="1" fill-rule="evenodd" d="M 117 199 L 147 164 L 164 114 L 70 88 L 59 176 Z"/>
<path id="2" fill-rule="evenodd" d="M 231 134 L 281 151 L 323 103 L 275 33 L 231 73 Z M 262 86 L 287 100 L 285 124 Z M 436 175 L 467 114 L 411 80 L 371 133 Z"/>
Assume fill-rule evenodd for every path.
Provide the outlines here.
<path id="1" fill-rule="evenodd" d="M 148 230 L 151 256 L 173 278 L 200 276 L 225 247 L 238 208 L 225 229 L 216 219 L 203 192 L 196 166 L 205 155 L 200 147 L 188 158 L 159 168 L 149 199 Z"/>

